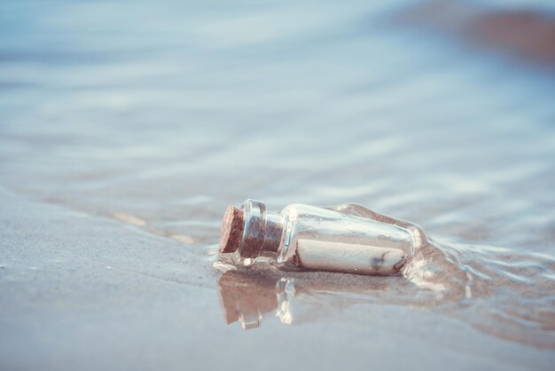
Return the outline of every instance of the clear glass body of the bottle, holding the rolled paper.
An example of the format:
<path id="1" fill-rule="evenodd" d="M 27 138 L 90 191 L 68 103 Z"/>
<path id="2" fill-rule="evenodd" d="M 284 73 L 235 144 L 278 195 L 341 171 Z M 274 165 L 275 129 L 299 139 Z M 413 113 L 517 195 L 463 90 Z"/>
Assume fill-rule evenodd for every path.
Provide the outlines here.
<path id="1" fill-rule="evenodd" d="M 308 269 L 393 274 L 412 255 L 410 231 L 332 209 L 293 204 L 277 262 Z"/>

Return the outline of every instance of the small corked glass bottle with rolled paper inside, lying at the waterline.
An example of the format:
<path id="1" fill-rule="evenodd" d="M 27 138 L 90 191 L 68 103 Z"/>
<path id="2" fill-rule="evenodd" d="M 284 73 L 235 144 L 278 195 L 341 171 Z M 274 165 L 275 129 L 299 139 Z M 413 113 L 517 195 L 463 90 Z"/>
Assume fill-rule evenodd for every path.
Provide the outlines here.
<path id="1" fill-rule="evenodd" d="M 387 275 L 399 272 L 426 236 L 418 225 L 358 205 L 323 209 L 293 204 L 280 212 L 260 201 L 230 206 L 220 252 L 238 263 L 270 257 L 285 267 Z"/>

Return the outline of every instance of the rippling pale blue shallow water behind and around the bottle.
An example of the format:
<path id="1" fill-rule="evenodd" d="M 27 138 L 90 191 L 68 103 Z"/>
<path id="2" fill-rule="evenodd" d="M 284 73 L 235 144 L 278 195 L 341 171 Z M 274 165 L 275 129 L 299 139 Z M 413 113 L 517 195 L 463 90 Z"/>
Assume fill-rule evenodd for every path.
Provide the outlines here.
<path id="1" fill-rule="evenodd" d="M 4 2 L 2 187 L 158 236 L 159 249 L 179 243 L 181 268 L 158 277 L 206 288 L 199 303 L 219 291 L 228 321 L 267 313 L 254 331 L 276 314 L 292 328 L 362 326 L 394 305 L 552 358 L 553 60 L 465 34 L 524 9 L 549 41 L 552 8 L 475 4 L 451 28 L 407 18 L 418 6 Z M 436 242 L 406 279 L 221 274 L 221 217 L 246 198 L 356 202 Z"/>

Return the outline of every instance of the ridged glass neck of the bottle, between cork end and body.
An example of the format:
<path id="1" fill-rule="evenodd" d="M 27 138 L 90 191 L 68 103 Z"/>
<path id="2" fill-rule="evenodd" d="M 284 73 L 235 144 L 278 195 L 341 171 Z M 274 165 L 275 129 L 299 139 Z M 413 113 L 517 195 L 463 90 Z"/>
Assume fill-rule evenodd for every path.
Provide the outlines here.
<path id="1" fill-rule="evenodd" d="M 243 204 L 245 226 L 238 249 L 242 258 L 277 254 L 283 240 L 285 217 L 277 212 L 266 211 L 260 201 L 246 200 Z"/>

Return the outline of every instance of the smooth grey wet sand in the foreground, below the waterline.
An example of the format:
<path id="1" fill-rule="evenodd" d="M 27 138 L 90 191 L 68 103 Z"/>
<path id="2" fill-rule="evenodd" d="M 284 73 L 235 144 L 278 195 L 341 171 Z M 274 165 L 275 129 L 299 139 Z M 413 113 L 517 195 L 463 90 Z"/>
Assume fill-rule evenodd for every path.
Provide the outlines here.
<path id="1" fill-rule="evenodd" d="M 1 198 L 4 369 L 279 370 L 284 362 L 334 369 L 348 362 L 353 369 L 547 370 L 555 360 L 552 351 L 448 316 L 340 296 L 293 301 L 301 312 L 292 326 L 277 319 L 251 331 L 226 326 L 217 274 L 198 250 L 4 190 Z"/>

